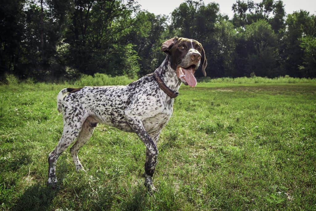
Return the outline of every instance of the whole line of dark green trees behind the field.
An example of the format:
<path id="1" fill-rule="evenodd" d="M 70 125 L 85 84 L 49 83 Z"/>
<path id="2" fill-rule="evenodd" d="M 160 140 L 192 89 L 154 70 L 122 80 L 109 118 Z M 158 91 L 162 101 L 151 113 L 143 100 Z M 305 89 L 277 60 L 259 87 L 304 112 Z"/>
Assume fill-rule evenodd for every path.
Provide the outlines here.
<path id="1" fill-rule="evenodd" d="M 0 79 L 97 72 L 136 78 L 159 66 L 161 44 L 174 36 L 202 43 L 212 78 L 316 77 L 315 15 L 286 14 L 275 0 L 237 0 L 232 19 L 219 9 L 187 0 L 169 17 L 141 10 L 134 0 L 3 0 Z"/>

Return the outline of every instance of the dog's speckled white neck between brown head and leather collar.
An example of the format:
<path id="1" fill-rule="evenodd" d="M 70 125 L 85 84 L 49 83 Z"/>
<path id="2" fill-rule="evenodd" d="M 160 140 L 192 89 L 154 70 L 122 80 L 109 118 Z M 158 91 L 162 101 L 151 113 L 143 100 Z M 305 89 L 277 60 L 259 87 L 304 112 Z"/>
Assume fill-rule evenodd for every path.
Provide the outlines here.
<path id="1" fill-rule="evenodd" d="M 161 65 L 156 70 L 162 79 L 162 81 L 173 91 L 178 91 L 182 82 L 177 76 L 175 70 L 170 66 L 170 56 L 167 55 L 166 59 L 163 60 Z"/>

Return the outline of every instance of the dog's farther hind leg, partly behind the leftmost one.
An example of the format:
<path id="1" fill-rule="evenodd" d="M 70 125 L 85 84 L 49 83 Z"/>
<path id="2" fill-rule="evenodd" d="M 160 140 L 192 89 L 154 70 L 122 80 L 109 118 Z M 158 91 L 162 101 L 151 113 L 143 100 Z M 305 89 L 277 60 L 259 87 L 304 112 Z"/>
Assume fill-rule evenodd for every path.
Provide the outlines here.
<path id="1" fill-rule="evenodd" d="M 85 171 L 82 164 L 80 163 L 80 160 L 78 159 L 78 152 L 79 149 L 90 139 L 96 125 L 97 123 L 88 117 L 82 125 L 76 142 L 70 147 L 71 157 L 74 161 L 77 172 L 79 172 L 79 170 Z"/>

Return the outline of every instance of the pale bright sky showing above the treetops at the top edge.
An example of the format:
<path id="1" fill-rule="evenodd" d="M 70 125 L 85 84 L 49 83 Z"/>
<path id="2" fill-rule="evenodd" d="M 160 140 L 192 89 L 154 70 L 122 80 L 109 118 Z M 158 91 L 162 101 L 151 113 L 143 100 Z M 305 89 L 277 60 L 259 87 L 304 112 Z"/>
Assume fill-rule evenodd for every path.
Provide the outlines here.
<path id="1" fill-rule="evenodd" d="M 179 7 L 180 3 L 185 2 L 185 0 L 137 0 L 142 9 L 148 10 L 155 15 L 170 15 L 170 13 L 176 8 Z M 233 17 L 232 6 L 233 3 L 236 3 L 236 0 L 204 0 L 204 4 L 210 2 L 219 3 L 220 12 L 222 14 L 228 15 L 230 18 Z M 254 0 L 254 2 L 259 3 L 262 0 Z M 315 0 L 283 0 L 285 5 L 286 14 L 291 14 L 293 11 L 304 9 L 307 10 L 310 14 L 316 14 L 316 1 Z"/>

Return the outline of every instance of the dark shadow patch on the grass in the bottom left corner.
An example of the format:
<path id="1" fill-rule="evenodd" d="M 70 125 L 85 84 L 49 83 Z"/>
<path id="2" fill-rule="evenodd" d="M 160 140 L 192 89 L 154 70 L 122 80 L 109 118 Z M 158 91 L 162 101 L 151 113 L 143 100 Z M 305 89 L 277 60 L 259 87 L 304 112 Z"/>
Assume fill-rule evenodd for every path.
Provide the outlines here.
<path id="1" fill-rule="evenodd" d="M 50 208 L 59 189 L 36 183 L 24 191 L 13 210 L 47 210 Z"/>

